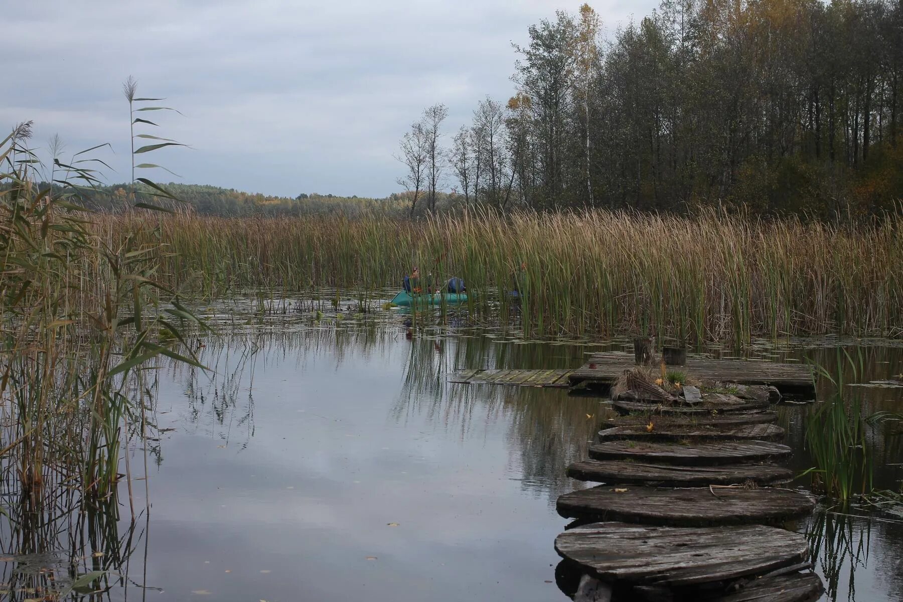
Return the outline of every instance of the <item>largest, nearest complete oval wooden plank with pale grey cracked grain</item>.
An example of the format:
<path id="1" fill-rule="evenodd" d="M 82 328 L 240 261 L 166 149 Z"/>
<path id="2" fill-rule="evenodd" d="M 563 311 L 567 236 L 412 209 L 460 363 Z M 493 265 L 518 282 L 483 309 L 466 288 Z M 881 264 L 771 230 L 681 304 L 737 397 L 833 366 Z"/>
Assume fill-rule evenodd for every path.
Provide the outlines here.
<path id="1" fill-rule="evenodd" d="M 607 582 L 689 586 L 737 579 L 805 559 L 805 537 L 749 525 L 697 529 L 594 523 L 555 538 L 555 551 Z"/>

